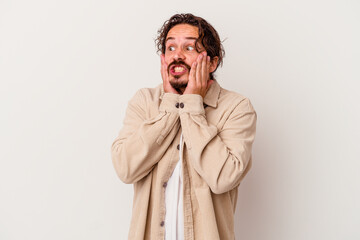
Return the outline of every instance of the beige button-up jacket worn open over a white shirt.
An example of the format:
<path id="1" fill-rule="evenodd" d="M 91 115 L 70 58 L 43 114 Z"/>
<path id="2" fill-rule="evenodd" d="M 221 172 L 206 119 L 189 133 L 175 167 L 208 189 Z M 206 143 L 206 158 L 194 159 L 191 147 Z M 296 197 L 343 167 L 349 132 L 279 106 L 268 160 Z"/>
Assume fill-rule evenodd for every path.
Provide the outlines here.
<path id="1" fill-rule="evenodd" d="M 183 133 L 186 240 L 232 240 L 238 186 L 251 167 L 256 112 L 249 99 L 215 81 L 200 95 L 140 89 L 112 144 L 119 178 L 134 184 L 129 239 L 164 239 L 165 188 Z"/>

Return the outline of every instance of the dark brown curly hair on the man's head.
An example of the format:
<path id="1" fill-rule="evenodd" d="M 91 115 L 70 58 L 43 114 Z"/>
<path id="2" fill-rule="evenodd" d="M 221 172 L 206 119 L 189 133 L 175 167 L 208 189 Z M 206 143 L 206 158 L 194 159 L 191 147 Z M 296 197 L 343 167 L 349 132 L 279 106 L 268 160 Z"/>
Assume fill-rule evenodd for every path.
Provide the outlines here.
<path id="1" fill-rule="evenodd" d="M 165 21 L 163 26 L 158 30 L 158 37 L 155 39 L 157 52 L 165 54 L 166 36 L 171 28 L 178 24 L 189 24 L 195 26 L 199 30 L 199 38 L 196 40 L 196 50 L 199 50 L 199 42 L 204 46 L 208 56 L 211 60 L 218 57 L 218 63 L 214 70 L 222 66 L 223 58 L 225 56 L 224 47 L 220 41 L 219 34 L 205 19 L 192 15 L 191 13 L 175 14 L 169 20 Z M 214 79 L 213 73 L 210 73 L 210 79 Z"/>

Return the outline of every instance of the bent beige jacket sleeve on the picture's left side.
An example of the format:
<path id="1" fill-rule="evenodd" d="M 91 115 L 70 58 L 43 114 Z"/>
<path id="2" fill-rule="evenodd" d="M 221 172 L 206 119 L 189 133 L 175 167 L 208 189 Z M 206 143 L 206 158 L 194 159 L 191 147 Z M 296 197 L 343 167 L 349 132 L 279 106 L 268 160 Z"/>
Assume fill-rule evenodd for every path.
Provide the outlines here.
<path id="1" fill-rule="evenodd" d="M 129 101 L 123 128 L 111 146 L 112 162 L 123 182 L 134 183 L 146 176 L 175 138 L 180 128 L 175 108 L 178 96 L 165 93 L 159 114 L 151 119 L 147 119 L 144 90 Z"/>

